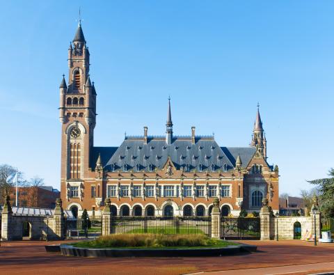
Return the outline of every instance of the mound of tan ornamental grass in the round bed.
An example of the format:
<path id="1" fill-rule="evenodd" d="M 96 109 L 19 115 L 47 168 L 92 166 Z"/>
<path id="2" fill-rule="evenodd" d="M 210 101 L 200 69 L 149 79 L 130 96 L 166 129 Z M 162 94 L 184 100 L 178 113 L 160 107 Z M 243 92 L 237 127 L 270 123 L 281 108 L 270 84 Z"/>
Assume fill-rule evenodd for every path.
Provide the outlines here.
<path id="1" fill-rule="evenodd" d="M 207 246 L 212 239 L 205 235 L 115 234 L 89 242 L 96 247 L 175 247 Z"/>

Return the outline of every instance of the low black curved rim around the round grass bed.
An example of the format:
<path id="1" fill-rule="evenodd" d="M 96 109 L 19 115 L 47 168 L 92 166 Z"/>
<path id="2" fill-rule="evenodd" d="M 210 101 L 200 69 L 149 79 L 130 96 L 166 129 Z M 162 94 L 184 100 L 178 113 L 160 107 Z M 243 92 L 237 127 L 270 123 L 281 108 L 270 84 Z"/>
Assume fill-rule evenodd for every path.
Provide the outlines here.
<path id="1" fill-rule="evenodd" d="M 257 246 L 239 244 L 221 248 L 194 249 L 90 249 L 61 244 L 61 253 L 77 257 L 213 257 L 256 251 Z"/>

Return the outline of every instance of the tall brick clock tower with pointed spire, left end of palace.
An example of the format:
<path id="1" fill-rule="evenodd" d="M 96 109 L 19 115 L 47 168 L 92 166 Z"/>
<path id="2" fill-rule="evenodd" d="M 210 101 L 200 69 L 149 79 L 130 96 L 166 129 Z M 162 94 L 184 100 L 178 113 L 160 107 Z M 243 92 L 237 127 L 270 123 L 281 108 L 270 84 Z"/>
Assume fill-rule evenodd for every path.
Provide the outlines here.
<path id="1" fill-rule="evenodd" d="M 64 193 L 72 185 L 78 185 L 81 190 L 90 166 L 89 157 L 93 148 L 96 118 L 96 92 L 94 82 L 90 81 L 89 58 L 79 20 L 77 32 L 68 49 L 68 84 L 63 75 L 60 86 L 61 191 Z"/>

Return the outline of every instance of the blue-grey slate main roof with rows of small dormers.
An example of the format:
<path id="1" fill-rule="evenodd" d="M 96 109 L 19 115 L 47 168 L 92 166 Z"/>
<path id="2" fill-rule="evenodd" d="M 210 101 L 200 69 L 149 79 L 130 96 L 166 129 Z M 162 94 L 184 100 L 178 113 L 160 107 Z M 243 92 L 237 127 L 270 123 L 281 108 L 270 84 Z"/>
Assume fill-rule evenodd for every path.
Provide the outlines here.
<path id="1" fill-rule="evenodd" d="M 94 147 L 90 166 L 95 168 L 101 155 L 102 166 L 108 171 L 154 171 L 166 164 L 168 156 L 177 169 L 184 171 L 228 171 L 235 167 L 237 155 L 241 157 L 245 168 L 253 157 L 255 148 L 219 147 L 214 138 L 196 136 L 196 143 L 191 144 L 191 136 L 175 137 L 173 143 L 166 144 L 164 137 L 150 137 L 144 144 L 143 137 L 127 137 L 120 147 Z"/>

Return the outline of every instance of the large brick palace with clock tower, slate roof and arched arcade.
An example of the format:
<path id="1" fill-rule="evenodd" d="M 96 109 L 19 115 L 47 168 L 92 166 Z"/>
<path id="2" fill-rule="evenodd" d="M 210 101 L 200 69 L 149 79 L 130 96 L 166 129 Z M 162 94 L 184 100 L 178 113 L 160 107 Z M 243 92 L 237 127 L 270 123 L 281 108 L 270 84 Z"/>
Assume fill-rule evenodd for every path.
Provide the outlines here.
<path id="1" fill-rule="evenodd" d="M 267 163 L 259 109 L 250 147 L 221 147 L 214 136 L 175 136 L 168 101 L 166 134 L 125 136 L 119 147 L 95 147 L 96 98 L 90 53 L 79 24 L 68 49 L 68 83 L 61 81 L 61 197 L 81 217 L 100 217 L 104 200 L 120 216 L 224 216 L 260 212 L 262 198 L 278 211 L 278 167 Z"/>

